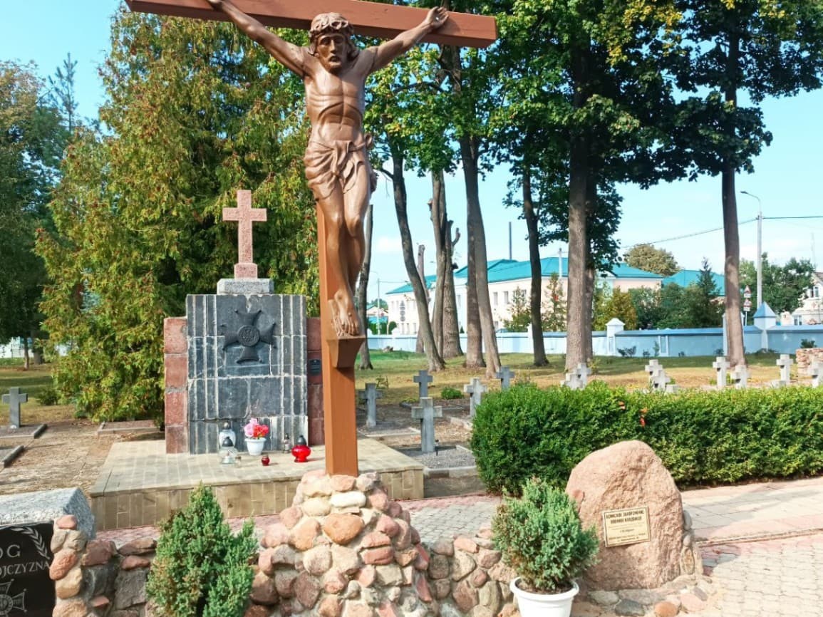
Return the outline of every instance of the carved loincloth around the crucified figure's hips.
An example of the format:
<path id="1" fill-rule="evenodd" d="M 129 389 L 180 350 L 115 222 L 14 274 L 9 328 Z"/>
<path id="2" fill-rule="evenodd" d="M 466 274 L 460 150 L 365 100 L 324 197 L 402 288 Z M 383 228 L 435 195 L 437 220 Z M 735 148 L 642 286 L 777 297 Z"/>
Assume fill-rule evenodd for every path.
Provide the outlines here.
<path id="1" fill-rule="evenodd" d="M 361 165 L 369 172 L 370 188 L 374 191 L 377 175 L 371 170 L 369 163 L 368 151 L 371 146 L 370 135 L 358 141 L 337 140 L 331 144 L 309 141 L 303 160 L 306 179 L 314 198 L 320 200 L 328 197 L 336 186 L 343 193 L 350 191 L 355 186 L 357 170 Z"/>

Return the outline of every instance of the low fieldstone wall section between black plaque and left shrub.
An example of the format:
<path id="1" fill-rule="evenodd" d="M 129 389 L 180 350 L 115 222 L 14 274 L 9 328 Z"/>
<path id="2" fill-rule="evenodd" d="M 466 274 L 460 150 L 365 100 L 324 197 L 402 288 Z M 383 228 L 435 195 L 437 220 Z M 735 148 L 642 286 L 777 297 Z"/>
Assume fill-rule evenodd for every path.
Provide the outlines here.
<path id="1" fill-rule="evenodd" d="M 53 617 L 142 615 L 156 545 L 156 540 L 142 538 L 118 550 L 111 540 L 89 540 L 77 528 L 77 517 L 58 518 L 49 568 L 57 596 Z"/>

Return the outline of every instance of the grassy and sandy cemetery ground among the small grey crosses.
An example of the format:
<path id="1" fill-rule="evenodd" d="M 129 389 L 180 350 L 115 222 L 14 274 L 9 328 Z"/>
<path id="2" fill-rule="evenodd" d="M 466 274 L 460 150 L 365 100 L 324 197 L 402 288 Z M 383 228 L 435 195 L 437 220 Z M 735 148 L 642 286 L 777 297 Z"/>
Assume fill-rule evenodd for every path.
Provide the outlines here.
<path id="1" fill-rule="evenodd" d="M 778 377 L 776 354 L 754 354 L 747 356 L 751 377 L 750 387 L 770 383 Z M 546 367 L 532 366 L 530 354 L 504 354 L 504 366 L 514 371 L 513 383 L 530 382 L 539 387 L 559 384 L 565 374 L 564 358 L 549 356 Z M 714 358 L 663 358 L 659 359 L 667 374 L 680 387 L 710 387 L 714 385 L 715 371 L 711 364 Z M 356 370 L 356 387 L 362 389 L 365 383 L 377 383 L 383 391 L 378 401 L 377 422 L 374 433 L 392 448 L 413 449 L 420 447 L 420 434 L 414 432 L 416 420 L 412 420 L 410 406 L 418 401 L 418 384 L 412 379 L 417 371 L 426 368 L 424 355 L 406 351 L 372 351 L 373 370 Z M 449 421 L 449 416 L 468 418 L 469 401 L 463 394 L 460 399 L 445 400 L 441 393 L 451 387 L 463 393 L 463 385 L 472 378 L 480 377 L 490 391 L 500 388 L 497 379 L 486 379 L 484 369 L 466 369 L 463 358 L 447 362 L 447 369 L 432 373 L 429 384 L 430 397 L 435 405 L 443 406 L 444 418 L 435 422 L 435 436 L 440 447 L 466 446 L 470 437 L 469 429 L 463 424 Z M 593 363 L 591 379 L 600 379 L 611 386 L 644 388 L 649 378 L 644 372 L 649 358 L 598 357 Z M 797 366 L 792 367 L 793 382 L 804 383 L 805 375 L 798 377 Z M 97 479 L 100 466 L 105 462 L 112 443 L 134 439 L 159 439 L 160 432 L 132 433 L 128 424 L 122 432 L 98 434 L 99 422 L 76 418 L 71 405 L 44 406 L 38 396 L 52 383 L 48 364 L 22 369 L 20 360 L 0 360 L 0 391 L 9 387 L 20 387 L 29 395 L 29 402 L 22 406 L 22 421 L 26 425 L 46 423 L 49 429 L 40 438 L 22 439 L 26 452 L 6 470 L 0 469 L 0 494 L 21 493 L 40 489 L 56 489 L 78 486 L 87 492 Z M 7 424 L 7 406 L 0 406 L 0 424 Z M 365 414 L 358 412 L 358 424 L 365 424 Z M 384 435 L 379 435 L 380 432 Z M 18 443 L 11 439 L 0 442 L 0 448 L 14 447 Z M 431 485 L 431 489 L 428 488 Z M 477 478 L 455 478 L 453 480 L 427 480 L 427 496 L 458 494 L 481 490 Z"/>

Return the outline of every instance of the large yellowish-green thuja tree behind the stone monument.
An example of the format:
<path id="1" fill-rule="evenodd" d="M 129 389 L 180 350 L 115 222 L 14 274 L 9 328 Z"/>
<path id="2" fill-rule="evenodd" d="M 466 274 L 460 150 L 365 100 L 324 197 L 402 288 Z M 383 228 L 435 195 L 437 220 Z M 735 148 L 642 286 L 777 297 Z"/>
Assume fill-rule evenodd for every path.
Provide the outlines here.
<path id="1" fill-rule="evenodd" d="M 231 276 L 236 225 L 221 209 L 237 189 L 269 211 L 254 231 L 261 275 L 316 306 L 302 86 L 232 26 L 125 9 L 102 74 L 107 130 L 68 151 L 57 233 L 40 238 L 45 327 L 68 346 L 56 381 L 79 411 L 158 417 L 163 318 Z"/>

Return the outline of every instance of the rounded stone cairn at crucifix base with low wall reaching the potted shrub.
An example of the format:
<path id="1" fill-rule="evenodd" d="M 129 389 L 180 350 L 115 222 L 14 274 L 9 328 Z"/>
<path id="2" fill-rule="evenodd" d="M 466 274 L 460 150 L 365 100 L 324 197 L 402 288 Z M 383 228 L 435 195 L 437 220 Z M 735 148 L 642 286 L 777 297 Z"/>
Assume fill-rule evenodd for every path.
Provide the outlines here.
<path id="1" fill-rule="evenodd" d="M 489 537 L 430 552 L 410 520 L 374 474 L 310 471 L 263 536 L 246 617 L 497 615 L 511 571 Z"/>

